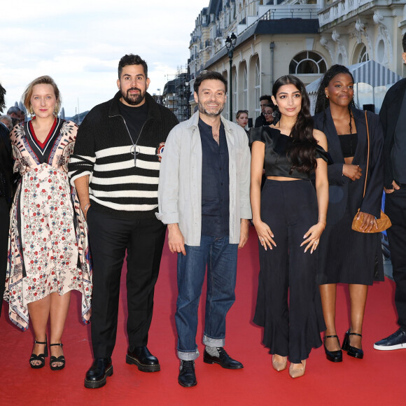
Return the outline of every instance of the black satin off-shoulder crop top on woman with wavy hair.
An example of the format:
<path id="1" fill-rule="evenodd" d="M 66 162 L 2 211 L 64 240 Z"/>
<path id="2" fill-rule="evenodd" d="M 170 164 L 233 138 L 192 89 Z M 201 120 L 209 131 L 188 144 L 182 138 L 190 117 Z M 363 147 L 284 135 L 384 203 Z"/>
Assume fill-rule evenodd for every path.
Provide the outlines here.
<path id="1" fill-rule="evenodd" d="M 265 176 L 283 176 L 286 178 L 311 179 L 311 174 L 299 172 L 292 168 L 292 163 L 289 162 L 286 151 L 293 142 L 292 137 L 281 134 L 279 130 L 272 127 L 253 128 L 250 132 L 250 145 L 254 141 L 261 141 L 265 144 Z M 322 158 L 325 162 L 330 163 L 328 153 L 321 146 L 316 146 L 316 158 Z"/>

